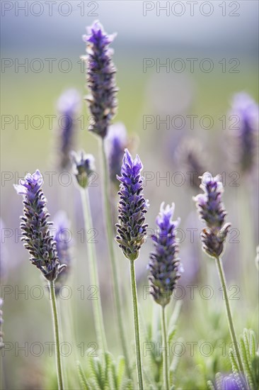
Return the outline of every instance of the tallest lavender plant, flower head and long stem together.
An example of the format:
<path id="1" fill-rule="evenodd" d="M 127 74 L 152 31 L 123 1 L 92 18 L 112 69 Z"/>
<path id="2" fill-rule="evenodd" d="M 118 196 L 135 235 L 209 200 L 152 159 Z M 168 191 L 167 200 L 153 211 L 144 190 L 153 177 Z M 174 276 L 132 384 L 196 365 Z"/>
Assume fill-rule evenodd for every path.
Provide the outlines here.
<path id="1" fill-rule="evenodd" d="M 115 66 L 113 65 L 113 50 L 109 45 L 115 35 L 107 35 L 103 26 L 96 21 L 88 28 L 88 35 L 84 35 L 86 42 L 86 56 L 82 59 L 86 64 L 86 80 L 90 94 L 86 96 L 89 111 L 92 115 L 91 125 L 88 130 L 98 135 L 101 141 L 101 156 L 103 164 L 103 190 L 105 225 L 108 238 L 108 250 L 113 274 L 113 295 L 117 312 L 117 323 L 120 332 L 123 355 L 125 356 L 127 374 L 131 377 L 129 355 L 125 330 L 123 326 L 122 308 L 120 302 L 120 287 L 117 275 L 117 264 L 113 247 L 113 215 L 110 208 L 110 181 L 108 161 L 105 155 L 105 141 L 108 127 L 115 116 L 117 109 L 117 87 L 115 84 Z"/>

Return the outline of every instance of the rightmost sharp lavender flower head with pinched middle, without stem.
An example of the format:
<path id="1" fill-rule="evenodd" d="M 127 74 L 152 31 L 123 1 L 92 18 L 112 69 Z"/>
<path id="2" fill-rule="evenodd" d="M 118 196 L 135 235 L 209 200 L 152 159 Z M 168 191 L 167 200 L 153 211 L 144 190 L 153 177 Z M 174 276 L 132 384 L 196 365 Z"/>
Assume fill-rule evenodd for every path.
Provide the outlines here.
<path id="1" fill-rule="evenodd" d="M 221 201 L 223 185 L 218 176 L 205 172 L 200 188 L 204 194 L 193 198 L 196 202 L 200 218 L 205 221 L 207 228 L 202 230 L 202 248 L 209 256 L 219 257 L 224 249 L 224 241 L 229 233 L 230 223 L 225 223 L 226 211 Z"/>

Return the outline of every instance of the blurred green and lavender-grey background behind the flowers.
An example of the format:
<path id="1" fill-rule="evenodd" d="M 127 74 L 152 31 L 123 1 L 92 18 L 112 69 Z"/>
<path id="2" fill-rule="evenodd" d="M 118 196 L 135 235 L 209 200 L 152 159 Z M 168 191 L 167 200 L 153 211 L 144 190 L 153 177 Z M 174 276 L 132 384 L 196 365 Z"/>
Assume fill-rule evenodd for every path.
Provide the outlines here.
<path id="1" fill-rule="evenodd" d="M 178 291 L 180 299 L 174 297 L 169 311 L 177 300 L 182 303 L 177 337 L 185 343 L 186 351 L 180 357 L 175 381 L 181 379 L 182 389 L 204 389 L 206 380 L 213 379 L 216 372 L 231 369 L 227 354 L 223 356 L 218 347 L 222 340 L 228 346 L 230 340 L 217 270 L 201 250 L 202 223 L 192 201 L 200 189 L 190 183 L 190 174 L 186 173 L 192 172 L 187 150 L 196 152 L 203 172 L 208 170 L 214 176 L 219 173 L 224 178 L 227 221 L 233 228 L 226 243 L 224 267 L 227 282 L 233 287 L 231 306 L 236 330 L 258 330 L 257 147 L 253 150 L 253 164 L 244 172 L 236 156 L 234 119 L 229 118 L 234 94 L 246 92 L 258 102 L 258 2 L 46 3 L 1 2 L 1 296 L 4 340 L 8 345 L 1 357 L 1 388 L 53 389 L 49 380 L 53 357 L 45 344 L 52 341 L 47 290 L 20 242 L 22 199 L 13 190 L 13 184 L 26 172 L 42 172 L 51 218 L 64 210 L 71 221 L 73 258 L 66 282 L 71 290 L 64 291 L 69 299 L 59 299 L 59 306 L 63 338 L 71 343 L 76 340 L 72 358 L 80 356 L 81 348 L 86 350 L 89 342 L 96 341 L 79 191 L 71 182 L 71 174 L 62 174 L 58 169 L 57 101 L 70 88 L 77 89 L 82 97 L 87 94 L 84 63 L 80 60 L 85 54 L 81 35 L 86 26 L 98 19 L 105 31 L 117 33 L 111 45 L 120 88 L 114 122 L 125 124 L 129 149 L 138 152 L 144 164 L 144 194 L 151 205 L 146 217 L 149 228 L 155 228 L 161 201 L 174 202 L 175 218 L 181 218 L 180 258 L 185 272 L 180 285 L 185 296 L 182 298 L 181 290 Z M 97 186 L 91 186 L 90 196 L 93 225 L 98 232 L 100 293 L 109 350 L 117 356 L 121 350 L 103 226 L 98 140 L 88 132 L 88 124 L 89 113 L 82 102 L 76 118 L 74 147 L 96 157 Z M 113 191 L 116 220 L 116 186 Z M 191 239 L 192 229 L 195 230 Z M 148 284 L 146 265 L 151 247 L 148 238 L 136 262 L 139 309 L 144 323 L 157 316 L 151 297 L 143 294 Z M 117 260 L 125 327 L 133 340 L 128 264 L 119 250 Z M 211 299 L 202 295 L 202 288 L 207 285 L 213 289 Z M 38 291 L 35 286 L 39 286 Z M 194 299 L 186 286 L 197 286 Z M 200 343 L 205 341 L 214 343 L 210 356 L 200 352 Z M 198 343 L 194 356 L 187 342 Z M 32 352 L 33 343 L 43 345 L 43 350 L 35 344 Z M 186 369 L 188 375 L 183 379 Z"/>

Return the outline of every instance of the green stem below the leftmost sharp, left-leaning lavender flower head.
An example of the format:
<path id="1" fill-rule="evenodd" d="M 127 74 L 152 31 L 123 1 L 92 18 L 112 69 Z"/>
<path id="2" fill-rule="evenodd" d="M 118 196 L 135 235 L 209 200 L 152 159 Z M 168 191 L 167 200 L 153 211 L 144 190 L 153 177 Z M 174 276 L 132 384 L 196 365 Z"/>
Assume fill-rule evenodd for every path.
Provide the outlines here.
<path id="1" fill-rule="evenodd" d="M 55 294 L 54 281 L 49 281 L 50 285 L 50 299 L 52 306 L 52 318 L 54 326 L 54 338 L 56 347 L 56 364 L 57 364 L 57 379 L 59 384 L 59 390 L 64 389 L 63 377 L 62 377 L 62 362 L 60 355 L 60 340 L 59 340 L 59 319 L 57 317 L 57 301 Z"/>

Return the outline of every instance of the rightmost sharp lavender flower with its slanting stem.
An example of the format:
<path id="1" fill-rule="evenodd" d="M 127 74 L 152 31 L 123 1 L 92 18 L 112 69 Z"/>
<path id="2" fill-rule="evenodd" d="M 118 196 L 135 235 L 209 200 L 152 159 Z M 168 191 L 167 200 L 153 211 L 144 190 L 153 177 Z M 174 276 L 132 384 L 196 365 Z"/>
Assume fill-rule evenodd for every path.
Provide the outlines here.
<path id="1" fill-rule="evenodd" d="M 205 221 L 207 228 L 203 229 L 201 235 L 202 248 L 207 255 L 214 257 L 219 273 L 219 280 L 224 294 L 224 303 L 226 307 L 226 317 L 229 323 L 229 331 L 231 340 L 236 352 L 238 360 L 238 368 L 241 372 L 243 364 L 241 355 L 238 349 L 236 332 L 234 329 L 234 322 L 231 315 L 231 308 L 229 304 L 229 296 L 226 289 L 226 277 L 221 263 L 220 255 L 224 250 L 224 243 L 226 235 L 229 232 L 230 223 L 225 223 L 226 211 L 221 201 L 221 196 L 224 191 L 220 177 L 212 177 L 212 174 L 205 172 L 202 176 L 202 184 L 200 188 L 203 189 L 204 194 L 199 194 L 193 198 L 196 201 L 197 209 L 200 213 L 200 218 Z"/>

